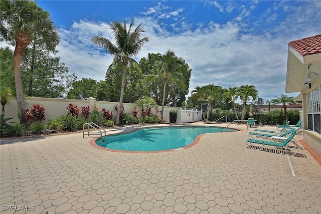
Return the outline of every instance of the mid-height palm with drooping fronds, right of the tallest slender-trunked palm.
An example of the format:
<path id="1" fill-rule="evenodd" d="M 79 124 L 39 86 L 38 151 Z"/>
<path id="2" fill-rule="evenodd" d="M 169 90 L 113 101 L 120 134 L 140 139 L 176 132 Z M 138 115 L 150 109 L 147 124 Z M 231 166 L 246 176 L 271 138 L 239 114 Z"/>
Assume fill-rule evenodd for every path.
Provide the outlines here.
<path id="1" fill-rule="evenodd" d="M 184 83 L 185 79 L 181 72 L 181 66 L 183 63 L 183 60 L 178 59 L 173 51 L 168 50 L 165 55 L 161 56 L 160 61 L 156 62 L 156 66 L 154 67 L 155 74 L 149 74 L 143 79 L 143 81 L 147 83 L 156 82 L 159 79 L 164 82 L 161 115 L 162 120 L 164 115 L 166 86 L 169 82 L 180 87 L 182 90 L 186 89 L 186 85 Z"/>

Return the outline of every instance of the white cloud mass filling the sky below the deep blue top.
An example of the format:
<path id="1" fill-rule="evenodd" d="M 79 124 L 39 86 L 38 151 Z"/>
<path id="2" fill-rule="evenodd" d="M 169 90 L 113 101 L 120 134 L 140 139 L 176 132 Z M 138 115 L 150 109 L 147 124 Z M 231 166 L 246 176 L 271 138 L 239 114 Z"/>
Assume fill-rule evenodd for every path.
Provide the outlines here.
<path id="1" fill-rule="evenodd" d="M 157 13 L 163 15 L 163 18 L 166 16 L 173 18 L 183 11 L 183 9 L 178 9 L 165 13 L 158 9 L 164 9 L 166 6 L 159 3 L 157 7 L 157 9 L 149 8 L 142 14 Z M 229 7 L 230 11 L 235 10 L 232 5 Z M 285 8 L 280 5 L 278 7 Z M 183 57 L 193 69 L 190 91 L 196 86 L 207 84 L 220 85 L 224 88 L 253 84 L 259 91 L 259 97 L 265 100 L 280 96 L 285 93 L 288 42 L 315 35 L 308 31 L 305 33 L 302 31 L 299 34 L 289 33 L 289 26 L 284 24 L 293 25 L 293 22 L 301 17 L 304 19 L 303 22 L 297 23 L 302 26 L 305 23 L 305 29 L 309 29 L 310 21 L 307 19 L 312 15 L 307 18 L 303 15 L 298 17 L 290 15 L 292 21 L 285 19 L 284 23 L 277 23 L 277 27 L 271 32 L 263 31 L 258 34 L 252 31 L 248 33 L 250 31 L 243 29 L 243 24 L 239 23 L 249 16 L 251 10 L 253 9 L 243 7 L 235 19 L 225 24 L 218 24 L 214 21 L 199 23 L 195 30 L 191 30 L 192 26 L 188 22 L 179 26 L 172 23 L 174 30 L 181 29 L 179 34 L 167 31 L 164 28 L 165 24 L 159 19 L 150 16 L 136 17 L 134 18 L 135 23 L 142 23 L 142 28 L 145 30 L 143 37 L 149 37 L 149 42 L 142 47 L 137 59 L 147 57 L 148 53 L 165 54 L 168 49 L 171 49 L 177 56 Z M 304 11 L 302 8 L 294 9 L 289 6 L 286 10 Z M 178 13 L 173 13 L 174 11 Z M 271 10 L 271 13 L 275 13 L 274 17 L 278 16 L 275 10 Z M 272 20 L 275 19 L 271 18 L 270 21 Z M 284 32 L 288 32 L 288 35 L 284 36 Z M 74 22 L 70 29 L 60 29 L 60 35 L 59 56 L 62 62 L 69 67 L 70 72 L 76 73 L 78 80 L 82 77 L 97 81 L 104 80 L 112 57 L 94 46 L 91 37 L 101 35 L 112 40 L 113 35 L 108 24 L 81 20 Z M 289 94 L 289 96 L 293 95 Z"/>

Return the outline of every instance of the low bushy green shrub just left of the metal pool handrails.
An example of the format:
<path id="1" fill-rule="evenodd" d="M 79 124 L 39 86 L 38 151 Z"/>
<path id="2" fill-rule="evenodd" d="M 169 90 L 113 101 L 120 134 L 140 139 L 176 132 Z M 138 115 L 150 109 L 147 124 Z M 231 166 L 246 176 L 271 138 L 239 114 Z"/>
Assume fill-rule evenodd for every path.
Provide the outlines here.
<path id="1" fill-rule="evenodd" d="M 59 128 L 67 131 L 81 130 L 86 121 L 83 118 L 77 118 L 72 114 L 58 117 Z"/>

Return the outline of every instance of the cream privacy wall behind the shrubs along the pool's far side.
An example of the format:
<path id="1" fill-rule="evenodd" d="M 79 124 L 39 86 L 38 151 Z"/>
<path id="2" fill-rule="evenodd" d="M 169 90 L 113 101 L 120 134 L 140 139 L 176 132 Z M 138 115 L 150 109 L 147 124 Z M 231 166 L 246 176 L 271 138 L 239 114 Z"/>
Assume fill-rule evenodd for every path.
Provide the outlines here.
<path id="1" fill-rule="evenodd" d="M 55 98 L 42 98 L 42 97 L 26 97 L 26 108 L 31 108 L 34 104 L 39 104 L 46 109 L 46 121 L 49 119 L 56 119 L 60 115 L 67 114 L 67 106 L 72 103 L 77 105 L 81 110 L 81 107 L 89 106 L 91 111 L 94 110 L 94 106 L 99 110 L 105 108 L 106 110 L 113 111 L 114 117 L 116 111 L 114 107 L 118 104 L 117 102 L 106 102 L 106 101 L 97 101 L 95 98 L 88 98 L 87 100 L 74 100 L 74 99 L 55 99 Z M 123 103 L 124 105 L 124 113 L 132 113 L 132 103 Z M 162 106 L 157 106 L 159 110 L 162 109 Z M 170 111 L 177 110 L 177 123 L 188 123 L 188 122 L 196 122 L 202 120 L 202 111 L 199 110 L 186 110 L 185 108 L 178 107 L 164 107 L 164 122 L 170 121 Z M 139 110 L 138 110 L 139 111 Z M 1 111 L 2 113 L 2 111 Z M 140 112 L 138 112 L 140 113 Z M 156 114 L 156 109 L 152 109 L 152 113 Z M 13 117 L 14 119 L 10 120 L 10 122 L 19 122 L 18 118 L 18 105 L 17 101 L 12 99 L 10 100 L 10 104 L 5 106 L 5 117 Z M 158 113 L 158 117 L 161 117 Z"/>

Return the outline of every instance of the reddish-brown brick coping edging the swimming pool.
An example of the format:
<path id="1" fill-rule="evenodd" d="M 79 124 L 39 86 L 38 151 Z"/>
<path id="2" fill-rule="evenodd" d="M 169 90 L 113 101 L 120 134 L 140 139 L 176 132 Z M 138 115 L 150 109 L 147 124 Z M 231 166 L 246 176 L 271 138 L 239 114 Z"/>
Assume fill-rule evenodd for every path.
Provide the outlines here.
<path id="1" fill-rule="evenodd" d="M 199 126 L 199 125 L 197 125 Z M 209 125 L 206 125 L 206 127 L 208 127 Z M 143 128 L 159 128 L 159 127 L 171 127 L 171 126 L 148 126 L 148 127 L 134 127 L 133 129 L 130 129 L 128 131 L 123 131 L 121 132 L 121 134 L 125 134 L 125 133 L 130 133 L 130 132 L 134 132 L 134 131 L 137 131 L 139 129 L 143 129 Z M 175 127 L 191 127 L 191 126 L 184 126 L 184 125 L 178 125 L 178 126 L 175 126 Z M 202 127 L 202 126 L 200 126 Z M 222 128 L 220 126 L 210 126 L 210 127 L 218 127 L 218 128 Z M 241 129 L 236 129 L 236 128 L 229 128 L 229 129 L 233 129 L 233 130 L 236 130 L 236 131 L 243 131 Z M 196 138 L 194 139 L 194 141 L 192 143 L 190 143 L 189 145 L 186 145 L 186 146 L 183 146 L 181 148 L 175 148 L 175 149 L 167 149 L 167 150 L 158 150 L 158 151 L 128 151 L 128 150 L 116 150 L 116 149 L 108 149 L 108 148 L 105 148 L 105 147 L 101 147 L 99 146 L 97 143 L 96 143 L 96 140 L 99 138 L 99 137 L 94 137 L 92 139 L 90 139 L 89 143 L 92 147 L 94 148 L 97 148 L 97 149 L 100 149 L 100 150 L 104 150 L 104 151 L 111 151 L 111 152 L 122 152 L 122 153 L 161 153 L 161 152 L 171 152 L 171 151 L 180 151 L 180 150 L 183 150 L 183 149 L 187 149 L 187 148 L 190 148 L 194 145 L 196 145 L 201 137 L 205 134 L 215 134 L 217 132 L 213 132 L 213 133 L 204 133 L 204 134 L 199 134 L 196 136 Z M 106 136 L 108 135 L 115 135 L 113 133 L 110 133 L 110 134 L 106 134 Z"/>

